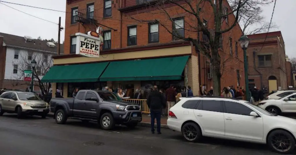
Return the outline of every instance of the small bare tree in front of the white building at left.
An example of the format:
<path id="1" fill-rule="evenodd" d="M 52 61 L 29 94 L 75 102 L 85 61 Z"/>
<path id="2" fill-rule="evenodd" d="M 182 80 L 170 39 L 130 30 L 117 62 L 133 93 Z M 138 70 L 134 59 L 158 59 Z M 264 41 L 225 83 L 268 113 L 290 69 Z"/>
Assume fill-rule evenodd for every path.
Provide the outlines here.
<path id="1" fill-rule="evenodd" d="M 14 84 L 13 85 L 20 85 L 20 84 L 28 84 L 30 82 L 18 82 L 18 80 L 22 81 L 24 79 L 24 71 L 25 70 L 32 70 L 31 67 L 31 60 L 36 60 L 37 64 L 34 68 L 34 85 L 38 86 L 44 95 L 44 91 L 48 92 L 49 90 L 49 83 L 42 83 L 42 77 L 49 71 L 50 67 L 53 65 L 52 54 L 48 53 L 41 53 L 41 52 L 28 52 L 28 53 L 20 53 L 18 59 L 13 62 L 14 64 L 18 65 L 18 73 L 13 74 Z"/>

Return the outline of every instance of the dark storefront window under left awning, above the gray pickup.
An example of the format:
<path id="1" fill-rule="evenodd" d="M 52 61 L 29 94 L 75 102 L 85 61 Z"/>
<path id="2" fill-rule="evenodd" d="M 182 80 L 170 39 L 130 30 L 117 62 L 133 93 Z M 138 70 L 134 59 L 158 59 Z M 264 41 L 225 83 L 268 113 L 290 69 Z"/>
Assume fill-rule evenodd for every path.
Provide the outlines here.
<path id="1" fill-rule="evenodd" d="M 73 92 L 75 88 L 78 90 L 102 90 L 102 88 L 107 86 L 107 82 L 77 82 L 77 83 L 68 83 L 68 96 L 69 98 L 73 97 Z"/>

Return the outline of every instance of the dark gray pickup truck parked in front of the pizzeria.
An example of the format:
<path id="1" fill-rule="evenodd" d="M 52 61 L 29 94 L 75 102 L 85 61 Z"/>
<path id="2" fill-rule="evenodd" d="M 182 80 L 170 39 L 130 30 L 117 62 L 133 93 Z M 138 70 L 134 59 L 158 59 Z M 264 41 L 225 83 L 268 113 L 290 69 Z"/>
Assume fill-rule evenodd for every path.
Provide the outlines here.
<path id="1" fill-rule="evenodd" d="M 102 90 L 79 90 L 75 98 L 53 98 L 50 111 L 57 124 L 65 124 L 68 118 L 97 121 L 104 130 L 111 130 L 115 124 L 133 128 L 142 121 L 139 105 Z"/>

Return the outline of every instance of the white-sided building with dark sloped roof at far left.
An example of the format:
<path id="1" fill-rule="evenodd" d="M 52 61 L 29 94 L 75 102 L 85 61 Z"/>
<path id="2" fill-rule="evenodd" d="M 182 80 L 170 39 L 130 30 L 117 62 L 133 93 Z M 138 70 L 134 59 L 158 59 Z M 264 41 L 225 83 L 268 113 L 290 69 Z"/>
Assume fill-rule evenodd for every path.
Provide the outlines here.
<path id="1" fill-rule="evenodd" d="M 30 36 L 0 33 L 0 88 L 29 88 L 30 82 L 24 81 L 24 70 L 31 70 L 32 59 L 37 62 L 36 69 L 41 79 L 45 69 L 53 65 L 52 56 L 57 55 L 56 45 Z M 35 83 L 37 85 L 37 79 Z M 34 87 L 34 90 L 39 90 L 39 87 Z"/>

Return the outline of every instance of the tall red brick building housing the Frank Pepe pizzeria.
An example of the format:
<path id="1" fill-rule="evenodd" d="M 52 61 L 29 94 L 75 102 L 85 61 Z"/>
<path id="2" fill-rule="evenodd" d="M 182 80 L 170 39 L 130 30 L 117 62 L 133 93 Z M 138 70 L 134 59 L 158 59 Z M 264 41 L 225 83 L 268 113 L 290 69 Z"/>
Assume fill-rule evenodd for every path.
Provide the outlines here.
<path id="1" fill-rule="evenodd" d="M 190 42 L 173 38 L 159 23 L 141 22 L 155 19 L 159 21 L 168 20 L 158 9 L 149 7 L 144 2 L 146 1 L 67 0 L 65 55 L 54 57 L 54 65 L 56 65 L 56 68 L 59 66 L 62 69 L 62 66 L 77 65 L 77 67 L 81 67 L 83 65 L 86 66 L 86 64 L 96 63 L 98 66 L 102 65 L 100 67 L 102 67 L 103 70 L 97 75 L 98 77 L 96 77 L 94 81 L 78 80 L 77 78 L 75 79 L 74 76 L 71 77 L 72 79 L 54 79 L 50 77 L 51 75 L 48 75 L 48 77 L 43 80 L 53 82 L 53 87 L 62 90 L 64 97 L 71 97 L 75 87 L 84 89 L 97 87 L 101 89 L 104 86 L 109 86 L 113 88 L 120 87 L 123 89 L 131 89 L 132 92 L 135 92 L 137 88 L 146 88 L 146 86 L 154 84 L 164 89 L 168 87 L 169 84 L 184 86 L 185 77 L 188 78 L 188 85 L 191 86 L 194 95 L 198 95 L 203 87 L 209 89 L 209 87 L 213 85 L 212 70 L 210 63 L 208 63 L 209 61 L 201 53 L 197 52 Z M 154 2 L 150 4 L 152 3 Z M 179 4 L 184 3 L 184 1 L 179 2 Z M 196 6 L 194 3 L 192 3 L 192 5 L 194 7 Z M 196 25 L 197 21 L 192 20 L 184 10 L 172 4 L 164 4 L 164 7 L 173 10 L 170 11 L 170 17 L 174 19 L 175 24 L 176 22 L 181 23 L 181 26 L 176 27 L 176 25 L 173 26 L 173 23 L 169 21 L 165 24 L 168 29 L 174 29 L 184 36 L 190 36 L 200 41 L 207 41 L 207 38 L 202 33 L 187 30 L 190 25 Z M 210 7 L 208 3 L 201 4 L 199 10 L 203 12 L 202 19 L 204 23 L 207 24 L 208 29 L 213 30 L 214 21 L 211 17 L 212 12 Z M 224 2 L 223 9 L 230 10 L 227 1 Z M 234 20 L 234 15 L 229 15 L 223 21 L 222 28 L 228 28 Z M 104 30 L 104 45 L 100 51 L 100 57 L 90 58 L 76 55 L 75 33 L 87 33 L 91 30 L 95 31 L 98 26 L 101 26 Z M 242 49 L 238 47 L 237 43 L 241 35 L 242 30 L 237 24 L 231 31 L 224 33 L 221 38 L 223 41 L 220 48 L 221 59 L 223 61 L 221 87 L 230 85 L 243 86 L 244 84 L 243 52 Z M 186 57 L 187 60 L 183 60 L 184 57 Z M 181 71 L 178 70 L 178 76 L 177 73 L 172 73 L 174 70 L 171 70 L 171 68 L 176 66 L 170 64 L 167 60 L 168 58 L 171 58 L 170 61 L 180 61 L 178 65 L 180 65 L 182 69 Z M 168 73 L 167 75 L 155 73 L 153 78 L 143 77 L 144 73 L 141 73 L 143 75 L 139 75 L 141 71 L 138 71 L 138 68 L 134 68 L 134 66 L 143 64 L 144 61 L 148 60 L 150 61 L 146 64 L 148 66 L 143 66 L 143 68 L 151 70 L 169 70 L 175 77 L 171 78 Z M 139 63 L 131 63 L 131 61 L 138 61 Z M 163 63 L 159 63 L 159 67 L 154 66 L 154 63 L 159 61 Z M 104 75 L 109 72 L 108 70 L 112 69 L 110 66 L 116 64 L 118 68 L 113 69 L 125 70 L 125 73 L 118 71 L 118 74 L 122 76 L 121 78 Z M 126 64 L 133 64 L 133 66 L 128 66 Z M 167 68 L 165 68 L 165 66 Z M 186 71 L 184 68 L 186 68 Z M 81 70 L 83 70 L 83 67 L 81 67 Z M 131 71 L 129 70 L 135 70 L 138 71 L 138 73 L 130 73 Z M 149 70 L 146 72 L 148 71 Z M 126 77 L 127 75 L 125 74 L 133 76 L 133 78 Z M 150 77 L 152 77 L 152 75 Z M 77 81 L 87 83 L 78 84 Z"/>

